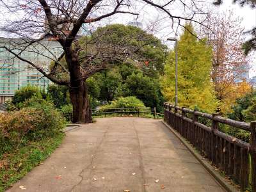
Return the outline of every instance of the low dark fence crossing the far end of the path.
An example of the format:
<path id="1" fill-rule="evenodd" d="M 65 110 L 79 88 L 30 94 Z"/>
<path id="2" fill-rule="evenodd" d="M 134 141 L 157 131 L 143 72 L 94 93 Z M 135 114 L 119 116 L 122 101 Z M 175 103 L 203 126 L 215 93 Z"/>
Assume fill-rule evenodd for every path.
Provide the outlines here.
<path id="1" fill-rule="evenodd" d="M 164 116 L 163 113 L 156 113 L 156 108 L 150 109 L 150 108 L 108 108 L 108 109 L 92 109 L 92 115 L 106 115 L 108 114 L 120 114 L 121 116 L 126 115 L 126 114 L 133 114 L 133 115 L 145 115 L 145 114 L 150 114 L 154 115 L 154 118 L 156 116 Z"/>

